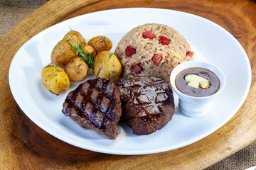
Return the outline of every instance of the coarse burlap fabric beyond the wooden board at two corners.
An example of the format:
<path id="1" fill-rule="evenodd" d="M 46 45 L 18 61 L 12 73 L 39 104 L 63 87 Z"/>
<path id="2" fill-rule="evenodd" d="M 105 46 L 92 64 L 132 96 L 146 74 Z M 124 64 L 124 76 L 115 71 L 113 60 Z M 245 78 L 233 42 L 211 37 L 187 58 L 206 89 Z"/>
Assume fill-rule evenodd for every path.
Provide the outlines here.
<path id="1" fill-rule="evenodd" d="M 0 38 L 47 1 L 0 0 Z M 256 141 L 205 170 L 243 170 L 251 166 L 256 166 Z"/>

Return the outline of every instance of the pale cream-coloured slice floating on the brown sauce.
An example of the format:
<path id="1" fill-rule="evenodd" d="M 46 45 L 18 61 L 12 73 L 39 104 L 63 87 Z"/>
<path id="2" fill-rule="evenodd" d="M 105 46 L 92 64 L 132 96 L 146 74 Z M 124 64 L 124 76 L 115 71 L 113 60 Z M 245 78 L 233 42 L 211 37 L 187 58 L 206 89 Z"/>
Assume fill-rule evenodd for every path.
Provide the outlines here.
<path id="1" fill-rule="evenodd" d="M 205 79 L 203 77 L 200 77 L 196 74 L 186 75 L 185 80 L 188 82 L 188 84 L 187 84 L 188 86 L 191 86 L 191 87 L 196 88 L 196 89 L 198 89 L 199 86 L 202 89 L 207 89 L 208 86 L 210 86 L 210 83 L 207 79 Z"/>

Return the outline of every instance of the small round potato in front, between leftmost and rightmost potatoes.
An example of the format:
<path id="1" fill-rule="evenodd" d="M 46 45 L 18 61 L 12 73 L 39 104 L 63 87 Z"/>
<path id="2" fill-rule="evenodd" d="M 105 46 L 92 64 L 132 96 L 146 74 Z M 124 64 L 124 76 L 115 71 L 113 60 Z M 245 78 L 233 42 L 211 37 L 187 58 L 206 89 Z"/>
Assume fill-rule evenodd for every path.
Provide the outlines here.
<path id="1" fill-rule="evenodd" d="M 85 79 L 90 68 L 82 60 L 81 57 L 73 57 L 65 67 L 65 72 L 68 74 L 70 81 L 81 81 Z"/>

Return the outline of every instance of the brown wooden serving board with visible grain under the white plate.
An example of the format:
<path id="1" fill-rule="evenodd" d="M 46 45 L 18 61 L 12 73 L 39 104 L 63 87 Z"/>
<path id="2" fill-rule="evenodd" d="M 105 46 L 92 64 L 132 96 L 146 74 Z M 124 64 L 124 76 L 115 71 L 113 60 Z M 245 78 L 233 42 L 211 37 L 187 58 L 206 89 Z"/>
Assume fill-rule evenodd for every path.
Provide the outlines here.
<path id="1" fill-rule="evenodd" d="M 127 7 L 169 8 L 193 13 L 217 23 L 238 39 L 252 66 L 252 86 L 238 113 L 222 128 L 203 140 L 169 152 L 120 156 L 68 145 L 38 128 L 21 111 L 11 94 L 8 76 L 11 60 L 24 42 L 68 18 Z M 0 40 L 1 169 L 204 169 L 250 144 L 256 137 L 255 16 L 255 1 L 49 1 Z"/>

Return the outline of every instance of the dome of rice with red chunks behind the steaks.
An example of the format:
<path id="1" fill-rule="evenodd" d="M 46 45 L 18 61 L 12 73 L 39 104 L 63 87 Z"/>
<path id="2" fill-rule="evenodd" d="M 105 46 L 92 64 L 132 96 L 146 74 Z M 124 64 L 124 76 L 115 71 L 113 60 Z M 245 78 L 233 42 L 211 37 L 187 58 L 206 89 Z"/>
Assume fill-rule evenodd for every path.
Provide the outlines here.
<path id="1" fill-rule="evenodd" d="M 152 76 L 169 83 L 171 71 L 181 62 L 193 60 L 188 42 L 174 28 L 147 23 L 130 30 L 114 52 L 122 77 Z"/>

